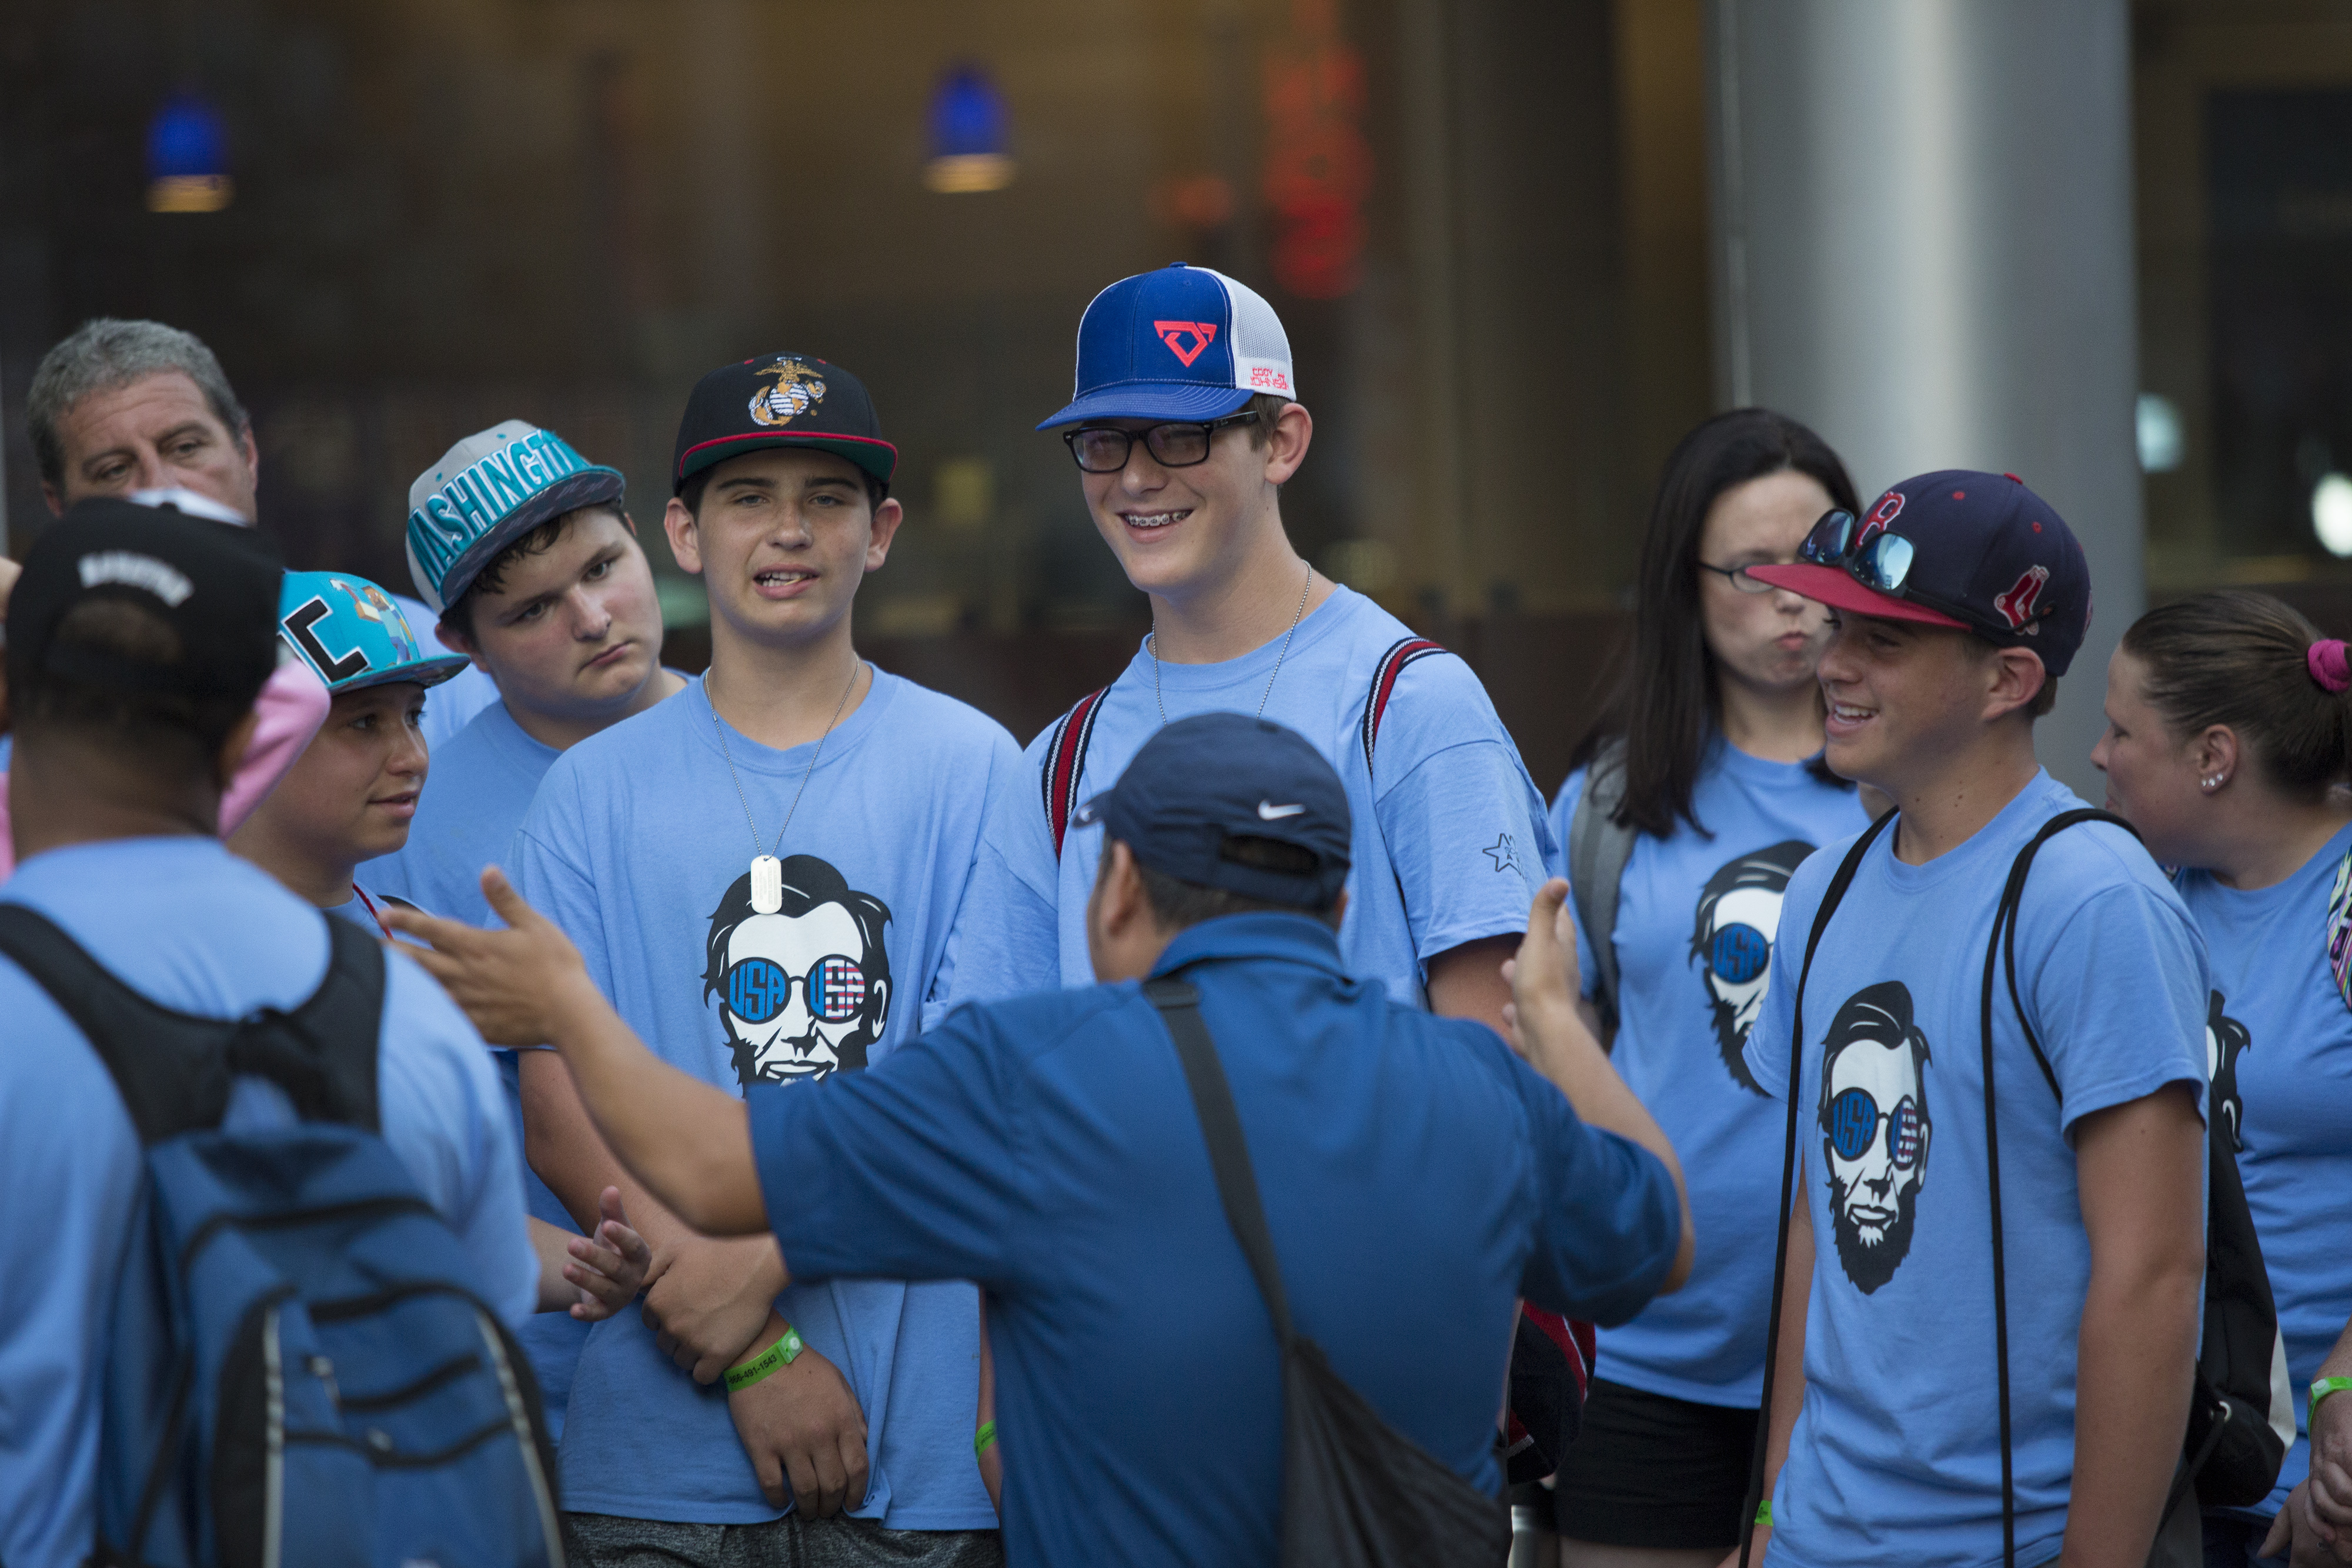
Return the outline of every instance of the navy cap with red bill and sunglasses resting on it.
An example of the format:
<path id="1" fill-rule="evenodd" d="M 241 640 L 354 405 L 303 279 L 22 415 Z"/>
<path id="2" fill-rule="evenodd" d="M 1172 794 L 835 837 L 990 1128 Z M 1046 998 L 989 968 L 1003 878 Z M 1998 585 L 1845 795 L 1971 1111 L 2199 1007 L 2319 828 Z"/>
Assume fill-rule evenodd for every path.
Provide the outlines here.
<path id="1" fill-rule="evenodd" d="M 1825 512 L 1795 564 L 1748 576 L 1856 616 L 2032 649 L 2053 679 L 2091 630 L 2091 562 L 2058 508 L 2013 473 L 1903 480 L 1860 517 Z"/>

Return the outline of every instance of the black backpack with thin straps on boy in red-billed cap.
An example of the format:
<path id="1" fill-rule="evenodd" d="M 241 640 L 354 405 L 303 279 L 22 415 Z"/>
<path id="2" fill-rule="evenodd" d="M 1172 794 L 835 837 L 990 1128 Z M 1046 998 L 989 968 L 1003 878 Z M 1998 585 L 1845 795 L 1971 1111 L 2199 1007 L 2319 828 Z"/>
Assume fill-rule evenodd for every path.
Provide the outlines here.
<path id="1" fill-rule="evenodd" d="M 1755 1455 L 1748 1472 L 1748 1505 L 1743 1519 L 1755 1519 L 1764 1500 L 1764 1446 L 1771 1434 L 1771 1385 L 1780 1345 L 1780 1293 L 1788 1284 L 1788 1225 L 1790 1197 L 1797 1175 L 1797 1098 L 1804 1072 L 1804 983 L 1813 973 L 1813 952 L 1820 947 L 1830 917 L 1853 886 L 1853 875 L 1863 856 L 1896 820 L 1889 811 L 1853 842 L 1839 863 L 1837 875 L 1813 914 L 1813 931 L 1804 940 L 1804 966 L 1797 971 L 1797 1001 L 1790 1018 L 1788 1053 L 1788 1140 L 1780 1152 L 1780 1241 L 1771 1267 L 1771 1328 L 1766 1345 L 1773 1354 L 1764 1359 L 1766 1420 L 1757 1422 Z M 2042 1053 L 2032 1025 L 2025 1020 L 2025 1001 L 2018 997 L 2018 910 L 2025 900 L 2025 875 L 2034 853 L 2051 835 L 2079 823 L 2110 823 L 2133 839 L 2138 830 L 2110 811 L 2089 806 L 2060 811 L 2018 851 L 2009 867 L 2009 884 L 1992 914 L 1992 936 L 1985 943 L 1985 990 L 1980 1009 L 1983 1070 L 1985 1070 L 1985 1173 L 1992 1208 L 1992 1345 L 1999 1378 L 2002 1422 L 2002 1561 L 2018 1561 L 2018 1497 L 2013 1455 L 2009 1439 L 2009 1288 L 2002 1246 L 2002 1157 L 1994 1117 L 1994 1060 L 1992 1060 L 1992 980 L 2006 973 L 2009 1004 L 2018 1013 L 2018 1030 L 2034 1053 L 2034 1065 L 2058 1100 L 2058 1074 Z M 2246 1187 L 2237 1175 L 2237 1157 L 2230 1152 L 2230 1131 L 2216 1117 L 2206 1117 L 2209 1150 L 2209 1197 L 2206 1197 L 2206 1291 L 2204 1291 L 2204 1342 L 2197 1352 L 2194 1396 L 2190 1401 L 2190 1425 L 2183 1439 L 2183 1465 L 2157 1519 L 2171 1519 L 2173 1507 L 2190 1486 L 2206 1507 L 2251 1507 L 2270 1495 L 2286 1462 L 2286 1448 L 2296 1441 L 2296 1413 L 2286 1387 L 2286 1342 L 2279 1338 L 2279 1309 L 2270 1295 L 2270 1274 L 2263 1267 L 2263 1241 L 2253 1234 L 2253 1213 L 2246 1208 Z M 2284 1425 L 2281 1425 L 2284 1422 Z M 1740 1563 L 1748 1563 L 1752 1533 L 1743 1526 Z"/>

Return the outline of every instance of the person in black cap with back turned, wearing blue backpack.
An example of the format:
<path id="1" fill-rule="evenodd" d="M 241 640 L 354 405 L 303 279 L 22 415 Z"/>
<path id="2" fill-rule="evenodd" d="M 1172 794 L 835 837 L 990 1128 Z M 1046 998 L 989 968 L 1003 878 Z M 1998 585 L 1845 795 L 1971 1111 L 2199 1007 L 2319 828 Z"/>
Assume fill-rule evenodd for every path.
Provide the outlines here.
<path id="1" fill-rule="evenodd" d="M 221 790 L 278 663 L 280 569 L 249 529 L 85 501 L 40 536 L 7 607 L 9 769 L 21 865 L 0 900 L 61 926 L 139 994 L 202 1018 L 294 1009 L 327 924 L 216 837 Z M 66 1568 L 94 1542 L 108 1302 L 148 1180 L 115 1081 L 80 1030 L 0 959 L 0 1185 L 38 1227 L 0 1269 L 0 1561 Z M 517 1157 L 473 1025 L 390 957 L 383 1140 L 508 1321 L 541 1295 Z M 287 1119 L 240 1086 L 228 1124 Z"/>

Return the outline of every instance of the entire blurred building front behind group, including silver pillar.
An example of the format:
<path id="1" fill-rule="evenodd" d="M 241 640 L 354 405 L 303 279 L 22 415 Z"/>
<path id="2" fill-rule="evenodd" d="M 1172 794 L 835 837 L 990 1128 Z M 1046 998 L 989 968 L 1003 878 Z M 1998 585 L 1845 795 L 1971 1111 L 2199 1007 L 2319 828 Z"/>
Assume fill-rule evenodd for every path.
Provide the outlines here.
<path id="1" fill-rule="evenodd" d="M 1910 162 L 1839 153 L 1889 115 Z M 158 195 L 151 143 L 191 125 L 230 186 Z M 1867 277 L 1933 181 L 2002 216 L 2044 165 L 1945 284 L 1905 275 L 1877 315 L 1820 287 Z M 1028 738 L 1148 625 L 1030 425 L 1087 299 L 1178 259 L 1289 324 L 1301 548 L 1463 651 L 1545 790 L 1658 463 L 1733 397 L 1818 421 L 1865 491 L 1980 463 L 2096 517 L 2107 635 L 2143 585 L 2352 609 L 2345 0 L 12 0 L 7 529 L 21 552 L 47 522 L 33 364 L 89 315 L 205 336 L 254 411 L 263 524 L 388 583 L 407 482 L 459 435 L 550 425 L 652 529 L 694 378 L 816 353 L 903 454 L 861 649 Z M 2060 353 L 2067 299 L 2112 331 Z M 1905 341 L 1987 324 L 1976 411 L 1860 418 L 1922 374 Z M 691 665 L 701 595 L 666 583 Z"/>

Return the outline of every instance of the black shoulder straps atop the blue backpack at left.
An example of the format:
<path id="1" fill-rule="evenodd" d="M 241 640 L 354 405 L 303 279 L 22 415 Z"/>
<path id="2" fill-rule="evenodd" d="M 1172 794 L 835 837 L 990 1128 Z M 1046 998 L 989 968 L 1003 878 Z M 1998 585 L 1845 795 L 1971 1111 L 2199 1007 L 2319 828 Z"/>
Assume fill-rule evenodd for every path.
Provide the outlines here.
<path id="1" fill-rule="evenodd" d="M 238 1074 L 278 1084 L 306 1121 L 376 1131 L 383 950 L 327 919 L 327 978 L 292 1013 L 200 1018 L 148 1001 L 24 905 L 0 905 L 0 952 L 40 985 L 106 1063 L 141 1143 L 219 1126 Z"/>

